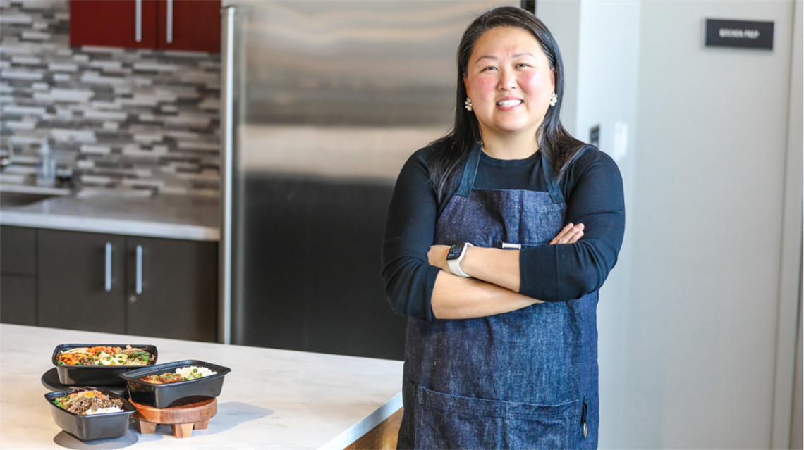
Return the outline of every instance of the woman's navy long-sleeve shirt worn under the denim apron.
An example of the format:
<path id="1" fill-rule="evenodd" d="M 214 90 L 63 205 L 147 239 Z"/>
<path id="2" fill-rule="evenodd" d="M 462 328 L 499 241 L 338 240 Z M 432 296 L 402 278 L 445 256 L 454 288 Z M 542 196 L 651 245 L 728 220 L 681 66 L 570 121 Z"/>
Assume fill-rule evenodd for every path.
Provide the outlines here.
<path id="1" fill-rule="evenodd" d="M 435 239 L 439 205 L 428 153 L 428 148 L 414 153 L 396 180 L 383 241 L 383 279 L 397 314 L 432 320 L 430 298 L 440 269 L 429 265 L 427 252 Z M 541 153 L 524 160 L 497 160 L 482 153 L 474 187 L 548 192 Z M 576 244 L 519 250 L 519 293 L 546 302 L 599 289 L 617 262 L 626 225 L 620 171 L 597 148 L 589 146 L 572 160 L 560 189 L 567 201 L 565 222 L 584 224 L 584 236 Z"/>

